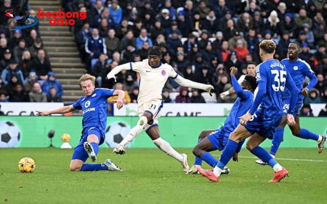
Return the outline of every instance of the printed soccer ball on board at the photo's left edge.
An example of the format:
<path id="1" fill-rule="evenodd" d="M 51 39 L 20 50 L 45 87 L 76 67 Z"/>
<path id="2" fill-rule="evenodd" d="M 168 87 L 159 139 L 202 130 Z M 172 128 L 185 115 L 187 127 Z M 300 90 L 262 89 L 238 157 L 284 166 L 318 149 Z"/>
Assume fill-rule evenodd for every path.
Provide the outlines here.
<path id="1" fill-rule="evenodd" d="M 15 147 L 19 139 L 19 128 L 14 123 L 0 121 L 0 147 Z"/>

